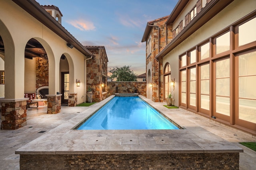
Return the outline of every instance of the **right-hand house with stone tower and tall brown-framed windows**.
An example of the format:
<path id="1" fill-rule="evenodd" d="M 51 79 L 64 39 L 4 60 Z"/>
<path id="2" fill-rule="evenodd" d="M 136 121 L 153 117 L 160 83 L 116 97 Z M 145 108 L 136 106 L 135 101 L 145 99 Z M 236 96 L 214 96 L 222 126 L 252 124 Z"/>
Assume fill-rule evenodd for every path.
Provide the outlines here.
<path id="1" fill-rule="evenodd" d="M 255 135 L 255 27 L 254 0 L 179 0 L 142 37 L 151 99 L 172 93 L 175 106 Z"/>

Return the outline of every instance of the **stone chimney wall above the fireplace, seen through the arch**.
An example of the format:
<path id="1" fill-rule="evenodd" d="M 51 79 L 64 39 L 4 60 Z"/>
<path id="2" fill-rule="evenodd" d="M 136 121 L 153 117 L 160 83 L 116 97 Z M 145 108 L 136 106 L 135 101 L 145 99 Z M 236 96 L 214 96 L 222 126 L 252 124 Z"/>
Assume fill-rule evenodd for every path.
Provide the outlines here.
<path id="1" fill-rule="evenodd" d="M 49 85 L 48 59 L 36 57 L 36 88 Z"/>

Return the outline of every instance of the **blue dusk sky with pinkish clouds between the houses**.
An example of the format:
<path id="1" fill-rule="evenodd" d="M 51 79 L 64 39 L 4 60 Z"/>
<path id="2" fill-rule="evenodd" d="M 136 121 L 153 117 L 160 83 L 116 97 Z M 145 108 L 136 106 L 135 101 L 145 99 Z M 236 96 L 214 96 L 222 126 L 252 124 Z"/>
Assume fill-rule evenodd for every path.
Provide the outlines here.
<path id="1" fill-rule="evenodd" d="M 131 66 L 146 72 L 146 43 L 141 39 L 148 21 L 171 14 L 178 0 L 36 0 L 62 13 L 62 26 L 82 45 L 105 46 L 110 68 Z"/>

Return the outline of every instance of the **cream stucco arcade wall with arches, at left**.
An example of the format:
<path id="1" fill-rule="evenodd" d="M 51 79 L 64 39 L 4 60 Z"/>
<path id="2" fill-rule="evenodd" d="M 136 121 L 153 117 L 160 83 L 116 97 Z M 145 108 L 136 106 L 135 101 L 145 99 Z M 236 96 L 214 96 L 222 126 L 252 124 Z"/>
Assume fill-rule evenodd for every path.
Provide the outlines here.
<path id="1" fill-rule="evenodd" d="M 34 63 L 25 63 L 24 59 L 26 43 L 34 38 L 42 44 L 48 56 L 49 94 L 60 91 L 60 57 L 65 54 L 69 64 L 70 92 L 78 93 L 78 103 L 84 102 L 85 56 L 80 51 L 76 48 L 70 49 L 65 40 L 9 0 L 1 1 L 0 28 L 5 47 L 6 99 L 24 98 L 25 91 L 36 91 L 35 78 L 30 75 L 32 72 L 28 74 L 28 67 L 30 64 L 34 67 Z M 81 81 L 80 87 L 76 86 L 76 79 Z"/>

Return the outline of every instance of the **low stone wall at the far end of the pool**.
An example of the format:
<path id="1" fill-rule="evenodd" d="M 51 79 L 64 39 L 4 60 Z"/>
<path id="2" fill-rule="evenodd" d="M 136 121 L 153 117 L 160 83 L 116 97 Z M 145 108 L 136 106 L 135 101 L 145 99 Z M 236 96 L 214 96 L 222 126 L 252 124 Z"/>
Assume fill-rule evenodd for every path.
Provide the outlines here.
<path id="1" fill-rule="evenodd" d="M 146 82 L 108 82 L 108 97 L 115 93 L 135 93 L 146 97 Z"/>

